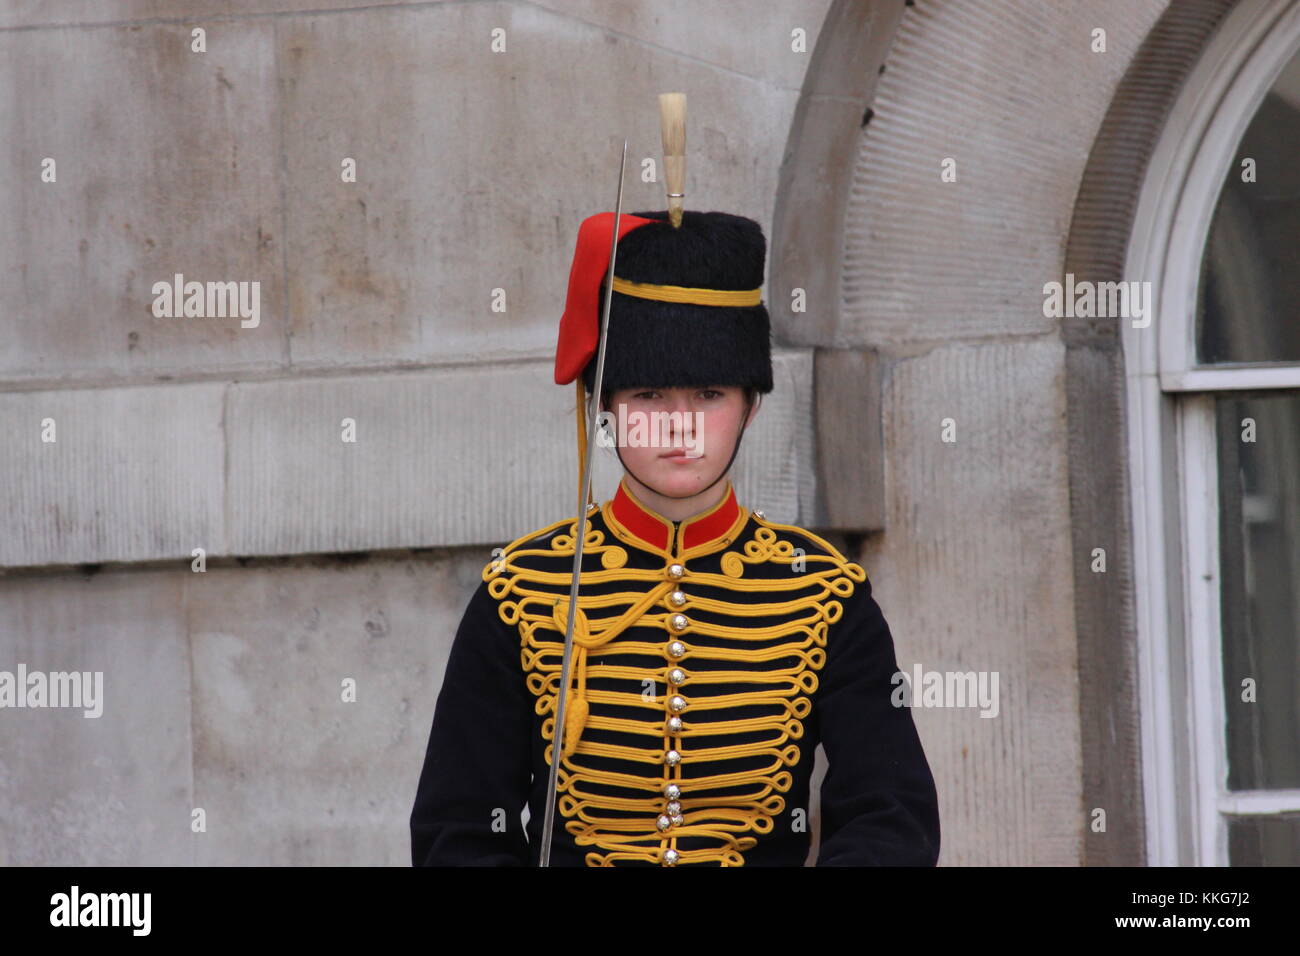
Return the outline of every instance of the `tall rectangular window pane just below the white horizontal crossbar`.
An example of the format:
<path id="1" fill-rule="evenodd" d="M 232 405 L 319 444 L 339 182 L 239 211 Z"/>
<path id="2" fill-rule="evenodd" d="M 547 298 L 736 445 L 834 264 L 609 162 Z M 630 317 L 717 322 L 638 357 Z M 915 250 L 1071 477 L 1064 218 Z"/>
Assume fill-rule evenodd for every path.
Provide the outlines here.
<path id="1" fill-rule="evenodd" d="M 1227 786 L 1300 788 L 1300 393 L 1216 406 Z"/>

